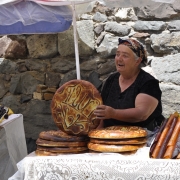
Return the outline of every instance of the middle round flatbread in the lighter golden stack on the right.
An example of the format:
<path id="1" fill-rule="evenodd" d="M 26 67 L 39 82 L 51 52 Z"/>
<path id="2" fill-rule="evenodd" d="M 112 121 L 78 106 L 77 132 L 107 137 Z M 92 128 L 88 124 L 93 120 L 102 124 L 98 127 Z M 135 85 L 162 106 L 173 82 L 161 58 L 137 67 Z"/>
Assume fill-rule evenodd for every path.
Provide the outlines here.
<path id="1" fill-rule="evenodd" d="M 90 138 L 90 142 L 97 143 L 97 144 L 119 144 L 119 145 L 125 145 L 125 144 L 144 144 L 147 142 L 147 139 L 145 137 L 142 138 L 130 138 L 130 139 L 95 139 Z"/>

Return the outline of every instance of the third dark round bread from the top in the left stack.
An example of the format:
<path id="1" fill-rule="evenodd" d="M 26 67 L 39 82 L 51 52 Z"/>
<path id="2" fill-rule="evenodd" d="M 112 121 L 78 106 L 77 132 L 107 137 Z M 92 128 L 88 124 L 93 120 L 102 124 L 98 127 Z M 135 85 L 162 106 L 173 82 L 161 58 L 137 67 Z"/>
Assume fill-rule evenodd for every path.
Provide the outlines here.
<path id="1" fill-rule="evenodd" d="M 37 145 L 37 150 L 55 153 L 78 153 L 88 150 L 87 147 L 44 147 Z"/>

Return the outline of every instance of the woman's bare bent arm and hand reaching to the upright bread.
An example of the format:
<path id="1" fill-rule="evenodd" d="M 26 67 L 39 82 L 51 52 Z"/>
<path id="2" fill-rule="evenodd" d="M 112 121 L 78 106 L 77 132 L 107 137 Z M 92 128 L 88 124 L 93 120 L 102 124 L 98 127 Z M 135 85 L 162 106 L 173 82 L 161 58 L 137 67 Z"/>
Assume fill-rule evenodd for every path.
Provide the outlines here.
<path id="1" fill-rule="evenodd" d="M 135 99 L 135 108 L 114 109 L 110 106 L 100 105 L 94 111 L 97 119 L 116 119 L 124 122 L 145 121 L 155 110 L 158 100 L 148 94 L 140 93 Z"/>

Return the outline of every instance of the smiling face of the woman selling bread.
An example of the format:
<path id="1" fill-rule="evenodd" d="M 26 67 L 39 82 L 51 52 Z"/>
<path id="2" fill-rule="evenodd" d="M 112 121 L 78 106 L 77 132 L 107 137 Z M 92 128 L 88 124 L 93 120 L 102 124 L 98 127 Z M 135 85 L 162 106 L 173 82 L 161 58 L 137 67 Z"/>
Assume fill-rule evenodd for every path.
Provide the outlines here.
<path id="1" fill-rule="evenodd" d="M 119 45 L 115 56 L 115 65 L 118 72 L 131 73 L 139 68 L 140 58 L 135 59 L 134 52 L 126 45 Z"/>

